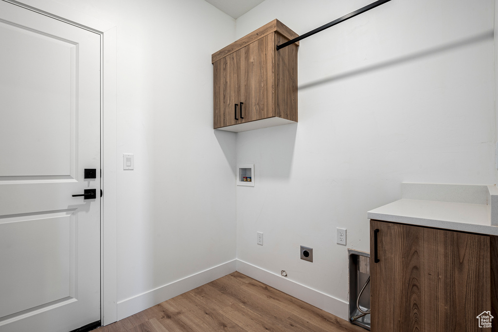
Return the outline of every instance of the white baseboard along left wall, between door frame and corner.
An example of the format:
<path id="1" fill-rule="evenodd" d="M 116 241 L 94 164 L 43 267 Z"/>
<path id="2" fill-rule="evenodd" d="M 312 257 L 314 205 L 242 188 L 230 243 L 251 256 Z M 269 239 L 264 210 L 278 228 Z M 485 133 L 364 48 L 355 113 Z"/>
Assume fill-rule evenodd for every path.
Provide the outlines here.
<path id="1" fill-rule="evenodd" d="M 233 261 L 118 302 L 118 321 L 235 272 L 237 269 L 236 261 L 234 259 Z"/>

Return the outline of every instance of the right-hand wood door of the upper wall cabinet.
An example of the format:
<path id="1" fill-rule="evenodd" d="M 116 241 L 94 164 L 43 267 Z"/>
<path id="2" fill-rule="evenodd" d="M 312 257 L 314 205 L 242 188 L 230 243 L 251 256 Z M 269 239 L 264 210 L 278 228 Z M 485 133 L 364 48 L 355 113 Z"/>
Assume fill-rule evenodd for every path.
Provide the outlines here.
<path id="1" fill-rule="evenodd" d="M 240 49 L 243 122 L 274 117 L 275 34 L 270 33 Z"/>

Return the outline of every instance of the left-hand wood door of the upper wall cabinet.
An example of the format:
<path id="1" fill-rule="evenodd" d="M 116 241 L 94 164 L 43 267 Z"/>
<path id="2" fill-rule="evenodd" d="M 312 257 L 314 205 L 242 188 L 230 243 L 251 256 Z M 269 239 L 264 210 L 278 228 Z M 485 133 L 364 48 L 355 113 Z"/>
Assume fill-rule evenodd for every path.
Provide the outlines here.
<path id="1" fill-rule="evenodd" d="M 240 50 L 213 63 L 215 129 L 241 123 L 241 120 L 236 120 L 235 116 L 235 104 L 240 102 L 240 77 Z M 239 107 L 237 108 L 237 118 L 239 118 Z"/>

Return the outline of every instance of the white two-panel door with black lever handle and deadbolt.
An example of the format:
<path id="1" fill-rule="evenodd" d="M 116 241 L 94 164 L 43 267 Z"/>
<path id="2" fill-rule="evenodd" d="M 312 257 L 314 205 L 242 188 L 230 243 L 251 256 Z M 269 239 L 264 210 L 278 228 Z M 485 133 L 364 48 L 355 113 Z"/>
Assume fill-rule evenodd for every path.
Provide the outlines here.
<path id="1" fill-rule="evenodd" d="M 100 320 L 100 45 L 0 0 L 0 332 Z"/>

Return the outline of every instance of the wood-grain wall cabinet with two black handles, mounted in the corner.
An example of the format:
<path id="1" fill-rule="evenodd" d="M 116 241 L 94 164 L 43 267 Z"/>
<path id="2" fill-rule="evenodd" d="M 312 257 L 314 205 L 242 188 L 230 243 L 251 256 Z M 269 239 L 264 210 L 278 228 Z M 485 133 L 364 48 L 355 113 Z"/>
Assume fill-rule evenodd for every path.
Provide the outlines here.
<path id="1" fill-rule="evenodd" d="M 212 55 L 215 129 L 241 132 L 297 122 L 298 35 L 273 20 Z"/>

